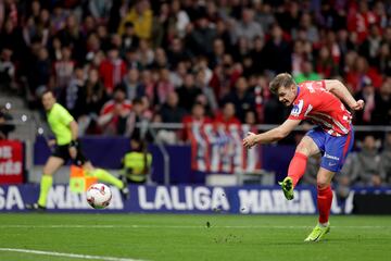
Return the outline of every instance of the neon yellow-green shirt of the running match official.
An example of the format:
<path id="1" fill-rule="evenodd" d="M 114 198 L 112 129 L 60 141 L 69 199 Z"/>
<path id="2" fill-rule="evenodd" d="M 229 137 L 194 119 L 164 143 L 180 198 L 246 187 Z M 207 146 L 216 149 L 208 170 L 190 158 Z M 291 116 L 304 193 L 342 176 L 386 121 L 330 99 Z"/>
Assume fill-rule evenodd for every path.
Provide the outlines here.
<path id="1" fill-rule="evenodd" d="M 54 103 L 47 113 L 47 116 L 49 126 L 54 133 L 56 144 L 59 146 L 70 144 L 72 141 L 70 123 L 74 121 L 70 112 L 61 104 Z"/>

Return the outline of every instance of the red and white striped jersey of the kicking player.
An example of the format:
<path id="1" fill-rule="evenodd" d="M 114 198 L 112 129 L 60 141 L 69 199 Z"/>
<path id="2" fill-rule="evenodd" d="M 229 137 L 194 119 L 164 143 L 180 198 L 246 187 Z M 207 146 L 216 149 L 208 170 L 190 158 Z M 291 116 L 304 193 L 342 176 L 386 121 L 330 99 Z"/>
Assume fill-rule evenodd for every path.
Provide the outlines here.
<path id="1" fill-rule="evenodd" d="M 326 90 L 325 80 L 308 80 L 298 87 L 290 120 L 310 120 L 332 136 L 351 130 L 352 115 L 342 101 Z"/>

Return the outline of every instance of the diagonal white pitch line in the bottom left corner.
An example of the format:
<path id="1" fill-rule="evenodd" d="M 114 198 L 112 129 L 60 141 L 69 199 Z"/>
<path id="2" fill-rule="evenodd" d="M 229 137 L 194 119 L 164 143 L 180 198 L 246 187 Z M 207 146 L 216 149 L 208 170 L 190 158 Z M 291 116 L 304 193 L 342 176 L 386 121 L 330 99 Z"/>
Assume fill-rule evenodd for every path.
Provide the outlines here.
<path id="1" fill-rule="evenodd" d="M 142 261 L 140 259 L 101 257 L 101 256 L 64 253 L 64 252 L 51 252 L 51 251 L 20 249 L 20 248 L 0 248 L 0 251 L 4 251 L 4 252 L 23 252 L 23 253 L 33 253 L 33 254 L 51 256 L 51 257 L 75 258 L 75 259 L 106 260 L 106 261 Z"/>

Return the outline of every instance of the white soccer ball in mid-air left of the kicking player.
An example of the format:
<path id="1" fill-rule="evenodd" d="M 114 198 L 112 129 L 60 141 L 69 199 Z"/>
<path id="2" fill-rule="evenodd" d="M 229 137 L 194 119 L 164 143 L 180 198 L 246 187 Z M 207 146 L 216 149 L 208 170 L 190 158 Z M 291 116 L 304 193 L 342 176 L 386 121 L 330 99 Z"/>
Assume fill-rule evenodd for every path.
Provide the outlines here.
<path id="1" fill-rule="evenodd" d="M 104 209 L 110 204 L 112 192 L 110 187 L 97 183 L 87 189 L 87 202 L 94 209 Z"/>

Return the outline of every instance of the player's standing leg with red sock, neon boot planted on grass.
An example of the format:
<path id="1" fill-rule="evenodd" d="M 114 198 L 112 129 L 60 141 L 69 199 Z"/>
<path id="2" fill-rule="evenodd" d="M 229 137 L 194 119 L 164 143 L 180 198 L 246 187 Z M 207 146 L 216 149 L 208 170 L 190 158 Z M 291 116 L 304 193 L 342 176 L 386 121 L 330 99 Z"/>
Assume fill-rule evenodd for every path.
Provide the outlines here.
<path id="1" fill-rule="evenodd" d="M 330 185 L 335 174 L 335 172 L 324 167 L 319 169 L 316 177 L 319 222 L 304 241 L 319 241 L 330 231 L 330 223 L 328 222 L 332 202 Z"/>

